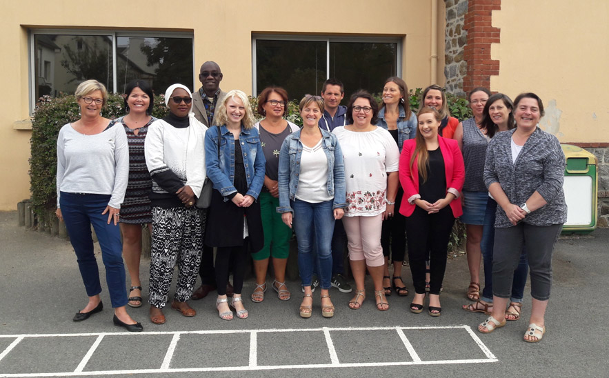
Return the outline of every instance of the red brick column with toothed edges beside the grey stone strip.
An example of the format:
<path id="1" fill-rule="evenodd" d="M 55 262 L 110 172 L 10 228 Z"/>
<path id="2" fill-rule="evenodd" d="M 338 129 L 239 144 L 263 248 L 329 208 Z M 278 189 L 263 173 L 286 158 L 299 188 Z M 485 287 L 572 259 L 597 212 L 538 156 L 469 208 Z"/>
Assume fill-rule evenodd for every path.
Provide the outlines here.
<path id="1" fill-rule="evenodd" d="M 499 74 L 499 61 L 490 59 L 490 44 L 499 43 L 501 30 L 492 27 L 492 11 L 501 9 L 501 0 L 469 0 L 463 29 L 468 31 L 468 43 L 463 59 L 468 62 L 463 77 L 463 91 L 476 87 L 490 88 L 490 77 Z"/>

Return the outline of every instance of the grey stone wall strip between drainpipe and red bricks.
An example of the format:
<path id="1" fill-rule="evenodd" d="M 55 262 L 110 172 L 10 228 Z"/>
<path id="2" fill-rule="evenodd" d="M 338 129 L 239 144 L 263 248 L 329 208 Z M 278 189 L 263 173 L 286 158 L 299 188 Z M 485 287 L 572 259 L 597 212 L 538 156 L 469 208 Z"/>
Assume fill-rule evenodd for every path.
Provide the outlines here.
<path id="1" fill-rule="evenodd" d="M 468 0 L 444 0 L 446 3 L 446 34 L 444 35 L 444 76 L 446 90 L 458 96 L 464 95 L 463 77 L 468 69 L 463 60 L 463 48 L 467 43 L 468 32 L 463 29 Z"/>

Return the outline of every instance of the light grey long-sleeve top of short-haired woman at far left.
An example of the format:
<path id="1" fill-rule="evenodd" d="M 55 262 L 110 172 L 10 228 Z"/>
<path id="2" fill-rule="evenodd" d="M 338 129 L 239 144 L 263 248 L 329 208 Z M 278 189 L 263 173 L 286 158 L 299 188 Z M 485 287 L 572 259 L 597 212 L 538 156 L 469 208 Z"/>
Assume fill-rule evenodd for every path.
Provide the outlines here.
<path id="1" fill-rule="evenodd" d="M 122 123 L 84 135 L 66 123 L 57 137 L 57 207 L 60 192 L 111 195 L 121 208 L 129 181 L 129 146 Z"/>

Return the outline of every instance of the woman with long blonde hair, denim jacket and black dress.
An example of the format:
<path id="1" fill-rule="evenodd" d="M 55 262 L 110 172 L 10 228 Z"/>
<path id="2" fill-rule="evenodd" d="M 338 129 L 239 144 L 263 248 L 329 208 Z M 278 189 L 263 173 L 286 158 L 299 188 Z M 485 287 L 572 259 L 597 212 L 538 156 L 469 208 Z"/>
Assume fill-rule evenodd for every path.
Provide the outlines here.
<path id="1" fill-rule="evenodd" d="M 229 263 L 234 296 L 230 307 L 239 319 L 248 317 L 241 290 L 248 251 L 263 246 L 260 204 L 256 201 L 264 181 L 266 163 L 248 97 L 241 90 L 226 94 L 216 110 L 216 126 L 206 132 L 208 177 L 214 184 L 205 242 L 217 247 L 215 270 L 218 287 L 216 307 L 224 320 L 232 319 L 226 297 Z"/>

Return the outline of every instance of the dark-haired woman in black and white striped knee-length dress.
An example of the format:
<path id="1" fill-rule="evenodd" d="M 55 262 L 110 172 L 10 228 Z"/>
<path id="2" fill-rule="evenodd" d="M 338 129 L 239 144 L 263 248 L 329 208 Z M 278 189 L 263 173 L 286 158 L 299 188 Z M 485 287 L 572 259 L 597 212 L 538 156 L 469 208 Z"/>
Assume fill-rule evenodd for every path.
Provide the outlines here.
<path id="1" fill-rule="evenodd" d="M 152 181 L 146 168 L 143 145 L 148 126 L 157 119 L 152 117 L 154 94 L 146 81 L 134 80 L 125 88 L 125 109 L 127 115 L 117 121 L 123 123 L 129 143 L 129 182 L 125 200 L 121 204 L 121 233 L 123 234 L 123 259 L 129 270 L 131 287 L 128 305 L 141 306 L 141 281 L 139 280 L 139 260 L 141 257 L 141 230 L 148 224 L 152 233 L 150 215 L 150 190 Z"/>

